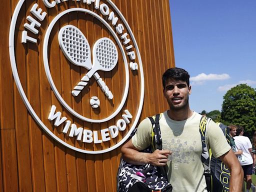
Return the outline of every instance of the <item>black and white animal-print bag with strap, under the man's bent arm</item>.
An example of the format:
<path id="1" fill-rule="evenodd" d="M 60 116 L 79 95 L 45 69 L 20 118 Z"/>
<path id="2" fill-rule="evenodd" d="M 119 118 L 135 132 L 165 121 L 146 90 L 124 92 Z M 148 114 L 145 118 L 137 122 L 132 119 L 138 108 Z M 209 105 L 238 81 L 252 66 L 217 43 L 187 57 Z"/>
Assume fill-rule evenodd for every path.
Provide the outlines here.
<path id="1" fill-rule="evenodd" d="M 159 114 L 148 117 L 152 123 L 152 145 L 142 152 L 152 153 L 155 149 L 162 149 L 161 133 L 159 127 Z M 136 132 L 132 131 L 130 137 Z M 131 191 L 161 191 L 171 192 L 172 186 L 168 182 L 167 173 L 163 166 L 153 166 L 151 164 L 134 165 L 120 159 L 117 171 L 117 190 L 119 192 Z"/>

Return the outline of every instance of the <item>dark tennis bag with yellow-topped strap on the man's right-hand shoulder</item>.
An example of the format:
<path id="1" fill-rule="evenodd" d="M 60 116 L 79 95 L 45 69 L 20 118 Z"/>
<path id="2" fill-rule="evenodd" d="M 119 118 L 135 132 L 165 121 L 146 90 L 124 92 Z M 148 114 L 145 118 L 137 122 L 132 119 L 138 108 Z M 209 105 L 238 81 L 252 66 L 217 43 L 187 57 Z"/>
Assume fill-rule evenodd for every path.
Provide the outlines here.
<path id="1" fill-rule="evenodd" d="M 204 165 L 204 176 L 206 179 L 207 191 L 210 192 L 228 192 L 230 171 L 228 167 L 219 159 L 215 158 L 211 154 L 209 155 L 207 143 L 205 142 L 207 137 L 207 124 L 210 118 L 202 116 L 199 125 L 199 131 L 202 140 L 202 154 L 201 160 Z M 230 144 L 229 128 L 223 123 L 217 123 L 223 131 L 228 144 Z"/>

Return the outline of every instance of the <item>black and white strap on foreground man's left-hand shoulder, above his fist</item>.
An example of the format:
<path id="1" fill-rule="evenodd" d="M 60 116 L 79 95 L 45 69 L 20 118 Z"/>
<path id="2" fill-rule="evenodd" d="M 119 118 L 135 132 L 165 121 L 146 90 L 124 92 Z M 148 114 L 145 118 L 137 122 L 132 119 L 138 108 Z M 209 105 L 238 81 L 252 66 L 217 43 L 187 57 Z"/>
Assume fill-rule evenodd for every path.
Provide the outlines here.
<path id="1" fill-rule="evenodd" d="M 156 114 L 153 117 L 148 117 L 149 120 L 152 123 L 152 129 L 151 129 L 151 137 L 152 137 L 152 148 L 155 149 L 162 149 L 162 139 L 161 139 L 161 131 L 160 131 L 160 125 L 159 125 L 159 118 L 160 114 Z"/>

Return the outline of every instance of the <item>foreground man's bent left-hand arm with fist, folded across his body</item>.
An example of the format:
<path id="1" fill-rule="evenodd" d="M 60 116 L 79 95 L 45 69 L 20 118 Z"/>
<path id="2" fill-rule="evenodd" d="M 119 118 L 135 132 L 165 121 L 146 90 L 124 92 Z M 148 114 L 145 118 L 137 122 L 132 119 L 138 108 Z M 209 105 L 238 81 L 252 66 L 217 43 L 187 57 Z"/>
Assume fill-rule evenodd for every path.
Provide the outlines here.
<path id="1" fill-rule="evenodd" d="M 171 154 L 169 150 L 156 149 L 153 153 L 140 152 L 132 144 L 131 139 L 128 140 L 122 147 L 122 158 L 131 164 L 145 164 L 150 163 L 155 166 L 163 166 L 167 163 L 168 154 Z"/>

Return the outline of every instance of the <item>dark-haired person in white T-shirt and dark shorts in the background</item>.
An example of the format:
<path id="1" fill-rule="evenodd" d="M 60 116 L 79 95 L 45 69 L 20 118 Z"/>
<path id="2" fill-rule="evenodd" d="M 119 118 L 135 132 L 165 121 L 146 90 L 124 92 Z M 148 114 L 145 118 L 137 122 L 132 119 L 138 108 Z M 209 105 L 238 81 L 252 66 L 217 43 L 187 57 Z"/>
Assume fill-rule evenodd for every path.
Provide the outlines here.
<path id="1" fill-rule="evenodd" d="M 235 148 L 240 148 L 242 150 L 242 154 L 238 157 L 240 164 L 243 169 L 244 178 L 246 181 L 246 192 L 249 191 L 251 186 L 251 175 L 253 168 L 253 159 L 251 153 L 251 142 L 247 136 L 243 136 L 243 127 L 237 126 L 236 135 L 234 137 Z"/>

